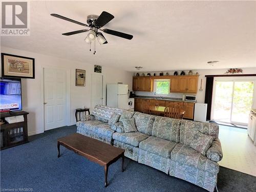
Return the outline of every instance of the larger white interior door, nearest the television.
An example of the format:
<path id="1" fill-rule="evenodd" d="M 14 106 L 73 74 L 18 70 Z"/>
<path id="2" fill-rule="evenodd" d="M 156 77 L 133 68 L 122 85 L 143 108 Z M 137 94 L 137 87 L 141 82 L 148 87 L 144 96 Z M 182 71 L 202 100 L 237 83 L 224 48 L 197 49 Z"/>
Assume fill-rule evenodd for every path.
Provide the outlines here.
<path id="1" fill-rule="evenodd" d="M 44 68 L 45 130 L 67 125 L 66 71 Z"/>

